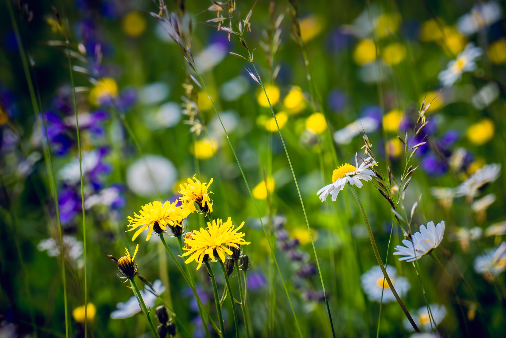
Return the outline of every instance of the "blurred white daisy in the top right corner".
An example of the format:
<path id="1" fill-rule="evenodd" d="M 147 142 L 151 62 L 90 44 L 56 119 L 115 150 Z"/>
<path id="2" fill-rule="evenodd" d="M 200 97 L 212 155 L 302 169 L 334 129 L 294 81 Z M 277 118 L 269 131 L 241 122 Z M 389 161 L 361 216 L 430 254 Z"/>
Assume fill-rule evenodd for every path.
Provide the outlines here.
<path id="1" fill-rule="evenodd" d="M 501 7 L 495 1 L 478 3 L 471 12 L 462 15 L 457 21 L 457 29 L 464 35 L 473 34 L 483 27 L 497 22 L 502 15 Z"/>

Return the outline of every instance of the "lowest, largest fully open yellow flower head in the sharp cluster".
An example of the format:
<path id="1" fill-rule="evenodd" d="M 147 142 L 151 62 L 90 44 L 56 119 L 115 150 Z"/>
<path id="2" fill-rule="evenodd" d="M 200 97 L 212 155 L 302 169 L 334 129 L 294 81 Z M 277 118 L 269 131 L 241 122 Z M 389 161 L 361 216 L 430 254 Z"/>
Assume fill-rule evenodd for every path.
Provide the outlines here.
<path id="1" fill-rule="evenodd" d="M 183 256 L 191 255 L 185 260 L 185 263 L 189 264 L 195 260 L 198 263 L 198 270 L 202 266 L 205 255 L 214 260 L 215 254 L 222 262 L 225 262 L 225 254 L 232 255 L 230 247 L 239 249 L 239 245 L 249 244 L 242 238 L 244 233 L 237 232 L 243 225 L 244 222 L 235 228 L 230 217 L 226 222 L 220 218 L 214 219 L 213 222 L 207 222 L 207 229 L 200 228 L 194 232 L 191 238 L 185 238 L 186 247 L 183 249 L 186 252 L 183 253 Z"/>

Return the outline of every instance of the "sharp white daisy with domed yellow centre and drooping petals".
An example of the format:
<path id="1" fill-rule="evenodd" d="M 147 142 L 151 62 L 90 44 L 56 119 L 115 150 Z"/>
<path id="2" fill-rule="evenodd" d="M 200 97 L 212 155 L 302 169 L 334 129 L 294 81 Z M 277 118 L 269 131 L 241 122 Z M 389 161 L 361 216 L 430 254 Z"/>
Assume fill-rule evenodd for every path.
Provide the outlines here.
<path id="1" fill-rule="evenodd" d="M 354 184 L 361 188 L 364 184 L 360 180 L 370 181 L 372 176 L 376 176 L 376 174 L 369 169 L 376 164 L 374 160 L 368 157 L 363 160 L 359 166 L 357 157 L 358 155 L 355 153 L 355 165 L 345 163 L 337 169 L 334 169 L 332 172 L 332 183 L 325 185 L 316 193 L 316 195 L 319 195 L 322 202 L 326 200 L 328 195 L 332 195 L 332 201 L 335 201 L 336 198 L 338 198 L 339 192 L 344 189 L 346 183 Z"/>

